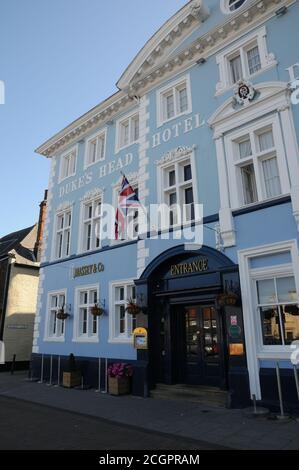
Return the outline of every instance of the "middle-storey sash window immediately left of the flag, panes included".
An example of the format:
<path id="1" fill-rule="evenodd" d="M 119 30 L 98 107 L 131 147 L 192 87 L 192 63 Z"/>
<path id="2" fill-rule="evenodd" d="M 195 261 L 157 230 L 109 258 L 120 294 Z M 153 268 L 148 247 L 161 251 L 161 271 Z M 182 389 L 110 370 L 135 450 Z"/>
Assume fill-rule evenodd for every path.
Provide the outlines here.
<path id="1" fill-rule="evenodd" d="M 101 246 L 102 196 L 82 203 L 81 250 L 92 251 Z"/>

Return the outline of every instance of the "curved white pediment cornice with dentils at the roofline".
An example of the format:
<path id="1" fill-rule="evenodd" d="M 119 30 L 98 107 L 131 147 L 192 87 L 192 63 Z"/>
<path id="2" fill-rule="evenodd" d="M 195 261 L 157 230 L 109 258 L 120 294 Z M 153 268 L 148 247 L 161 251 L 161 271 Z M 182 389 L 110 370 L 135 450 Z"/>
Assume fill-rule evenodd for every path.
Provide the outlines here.
<path id="1" fill-rule="evenodd" d="M 209 16 L 206 0 L 191 0 L 172 16 L 145 44 L 117 82 L 120 90 L 133 90 L 133 84 L 155 69 L 175 51 L 185 37 Z M 133 91 L 132 91 L 133 93 Z"/>

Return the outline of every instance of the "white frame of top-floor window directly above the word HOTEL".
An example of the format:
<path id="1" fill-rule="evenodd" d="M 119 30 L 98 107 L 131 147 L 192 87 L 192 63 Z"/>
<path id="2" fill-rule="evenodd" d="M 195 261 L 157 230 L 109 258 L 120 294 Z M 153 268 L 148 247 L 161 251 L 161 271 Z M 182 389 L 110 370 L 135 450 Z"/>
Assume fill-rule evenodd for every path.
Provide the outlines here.
<path id="1" fill-rule="evenodd" d="M 188 99 L 188 108 L 183 113 L 175 114 L 170 119 L 164 119 L 163 117 L 163 95 L 165 95 L 168 91 L 178 88 L 180 85 L 186 84 L 187 90 L 187 99 Z M 176 106 L 175 106 L 176 107 Z M 190 74 L 187 73 L 183 76 L 180 76 L 173 80 L 172 82 L 168 83 L 167 85 L 162 86 L 156 91 L 156 109 L 157 109 L 157 128 L 163 126 L 164 124 L 168 124 L 169 122 L 173 121 L 174 119 L 178 119 L 182 116 L 186 116 L 187 114 L 192 113 L 192 93 L 191 93 L 191 81 L 190 81 Z"/>

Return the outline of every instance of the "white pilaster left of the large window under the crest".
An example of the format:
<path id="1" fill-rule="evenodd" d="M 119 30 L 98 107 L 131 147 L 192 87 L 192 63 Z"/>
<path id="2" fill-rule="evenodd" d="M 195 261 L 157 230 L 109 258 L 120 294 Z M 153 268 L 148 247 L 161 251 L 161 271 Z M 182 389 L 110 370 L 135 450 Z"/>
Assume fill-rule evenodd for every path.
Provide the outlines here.
<path id="1" fill-rule="evenodd" d="M 220 233 L 225 248 L 236 244 L 234 220 L 230 207 L 229 186 L 224 153 L 223 134 L 214 137 L 217 153 L 218 181 L 220 193 Z"/>

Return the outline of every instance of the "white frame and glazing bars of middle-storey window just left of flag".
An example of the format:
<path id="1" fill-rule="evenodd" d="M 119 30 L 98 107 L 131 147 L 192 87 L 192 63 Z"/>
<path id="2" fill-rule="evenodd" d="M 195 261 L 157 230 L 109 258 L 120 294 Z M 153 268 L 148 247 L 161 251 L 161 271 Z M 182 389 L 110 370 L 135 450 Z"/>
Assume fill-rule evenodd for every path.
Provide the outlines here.
<path id="1" fill-rule="evenodd" d="M 94 206 L 96 201 L 100 200 L 101 201 L 101 213 L 95 217 L 92 215 L 91 219 L 85 219 L 85 206 L 92 204 L 92 214 L 94 214 Z M 81 201 L 81 207 L 80 207 L 80 221 L 79 221 L 79 238 L 78 238 L 78 254 L 79 253 L 90 253 L 96 250 L 99 250 L 102 246 L 102 239 L 100 237 L 100 244 L 98 247 L 93 246 L 93 242 L 95 241 L 95 231 L 94 227 L 96 225 L 96 221 L 99 220 L 99 231 L 101 235 L 101 223 L 102 223 L 102 216 L 103 216 L 103 191 L 100 191 L 96 193 L 94 196 L 83 199 Z M 84 246 L 84 238 L 85 238 L 85 225 L 86 222 L 90 220 L 91 221 L 91 248 L 87 250 Z"/>

